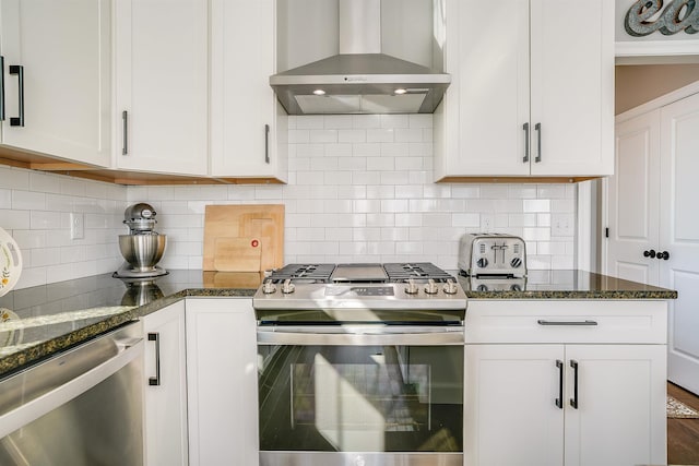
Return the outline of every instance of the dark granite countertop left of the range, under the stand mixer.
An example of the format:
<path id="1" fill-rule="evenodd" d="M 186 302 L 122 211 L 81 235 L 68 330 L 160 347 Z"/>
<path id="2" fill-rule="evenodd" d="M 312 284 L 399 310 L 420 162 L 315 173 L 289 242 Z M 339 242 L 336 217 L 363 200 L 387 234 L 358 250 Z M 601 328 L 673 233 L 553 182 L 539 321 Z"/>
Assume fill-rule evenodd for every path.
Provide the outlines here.
<path id="1" fill-rule="evenodd" d="M 187 296 L 252 297 L 260 274 L 170 271 L 154 280 L 95 275 L 0 297 L 0 379 Z"/>

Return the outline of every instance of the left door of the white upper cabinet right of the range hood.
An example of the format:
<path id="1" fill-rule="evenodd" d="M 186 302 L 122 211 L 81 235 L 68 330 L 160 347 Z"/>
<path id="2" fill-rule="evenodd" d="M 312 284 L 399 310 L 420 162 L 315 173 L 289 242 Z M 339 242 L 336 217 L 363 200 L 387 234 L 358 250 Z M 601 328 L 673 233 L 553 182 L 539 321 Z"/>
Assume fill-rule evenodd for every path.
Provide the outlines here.
<path id="1" fill-rule="evenodd" d="M 458 44 L 455 52 L 448 50 L 447 71 L 455 82 L 446 99 L 458 99 L 460 143 L 457 153 L 443 154 L 446 172 L 526 176 L 529 1 L 453 3 L 449 15 L 458 24 L 447 21 Z"/>

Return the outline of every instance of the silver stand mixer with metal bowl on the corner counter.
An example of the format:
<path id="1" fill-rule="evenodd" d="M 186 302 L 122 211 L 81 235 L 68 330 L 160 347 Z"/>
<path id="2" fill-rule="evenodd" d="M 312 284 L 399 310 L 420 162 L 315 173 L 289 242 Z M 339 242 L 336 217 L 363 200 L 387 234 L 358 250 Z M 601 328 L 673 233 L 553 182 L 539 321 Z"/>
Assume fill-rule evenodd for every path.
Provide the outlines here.
<path id="1" fill-rule="evenodd" d="M 152 278 L 167 274 L 157 262 L 165 252 L 167 237 L 153 228 L 156 212 L 150 204 L 133 204 L 123 213 L 129 235 L 119 235 L 119 250 L 127 262 L 114 273 L 118 278 Z"/>

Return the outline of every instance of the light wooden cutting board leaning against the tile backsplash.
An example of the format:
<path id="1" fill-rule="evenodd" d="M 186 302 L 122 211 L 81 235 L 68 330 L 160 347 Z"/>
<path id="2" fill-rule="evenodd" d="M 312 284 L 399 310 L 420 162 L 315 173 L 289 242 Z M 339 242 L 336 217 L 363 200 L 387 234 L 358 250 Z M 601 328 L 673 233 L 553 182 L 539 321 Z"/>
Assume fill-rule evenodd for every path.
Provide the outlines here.
<path id="1" fill-rule="evenodd" d="M 284 205 L 208 205 L 204 271 L 259 272 L 284 265 Z"/>

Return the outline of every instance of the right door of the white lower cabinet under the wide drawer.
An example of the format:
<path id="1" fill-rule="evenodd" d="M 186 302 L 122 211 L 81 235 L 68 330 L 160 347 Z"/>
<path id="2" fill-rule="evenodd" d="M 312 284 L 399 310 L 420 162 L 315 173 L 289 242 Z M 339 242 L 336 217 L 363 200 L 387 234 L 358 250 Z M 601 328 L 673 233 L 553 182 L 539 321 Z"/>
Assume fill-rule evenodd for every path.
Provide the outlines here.
<path id="1" fill-rule="evenodd" d="M 665 464 L 665 345 L 566 345 L 566 466 Z"/>

